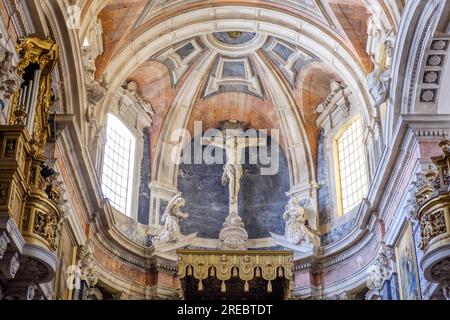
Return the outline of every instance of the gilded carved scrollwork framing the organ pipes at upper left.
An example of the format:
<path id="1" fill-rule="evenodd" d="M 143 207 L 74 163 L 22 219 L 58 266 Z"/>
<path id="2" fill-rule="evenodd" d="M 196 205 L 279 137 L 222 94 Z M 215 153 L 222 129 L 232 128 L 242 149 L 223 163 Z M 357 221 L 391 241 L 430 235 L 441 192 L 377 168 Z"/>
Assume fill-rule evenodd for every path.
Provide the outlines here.
<path id="1" fill-rule="evenodd" d="M 48 117 L 52 101 L 52 71 L 59 58 L 59 46 L 52 39 L 26 38 L 21 39 L 17 45 L 17 54 L 19 55 L 17 73 L 20 77 L 24 77 L 26 68 L 31 64 L 38 65 L 41 71 L 35 106 L 36 115 L 31 120 L 34 123 L 34 131 L 30 132 L 33 153 L 38 156 L 43 154 L 49 136 Z M 28 116 L 24 114 L 23 106 L 19 105 L 18 100 L 19 92 L 16 92 L 12 98 L 10 116 L 12 125 L 23 125 L 25 117 Z"/>

